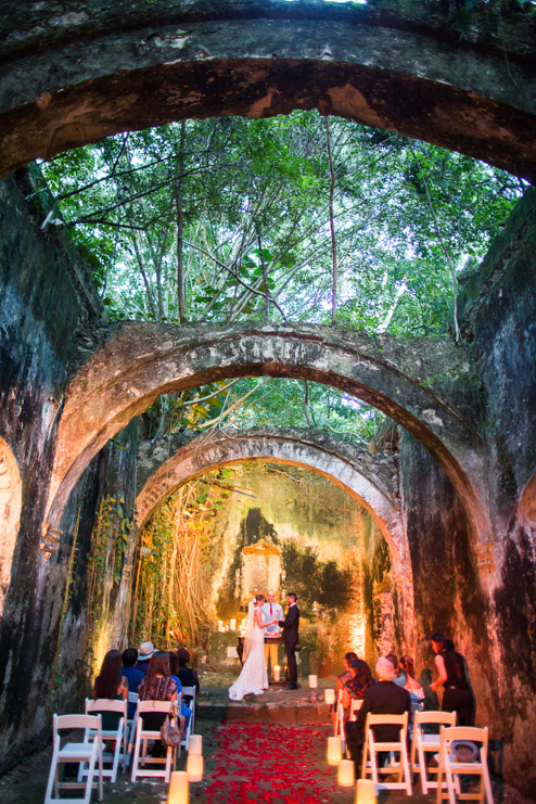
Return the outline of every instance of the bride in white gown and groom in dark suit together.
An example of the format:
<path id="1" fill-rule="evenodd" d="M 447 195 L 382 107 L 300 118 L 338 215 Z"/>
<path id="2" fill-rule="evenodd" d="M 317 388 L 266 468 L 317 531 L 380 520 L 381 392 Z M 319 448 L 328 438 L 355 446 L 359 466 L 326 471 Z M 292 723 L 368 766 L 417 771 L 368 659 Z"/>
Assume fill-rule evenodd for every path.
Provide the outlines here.
<path id="1" fill-rule="evenodd" d="M 244 695 L 261 695 L 268 689 L 268 673 L 266 669 L 268 655 L 271 653 L 272 669 L 275 658 L 277 663 L 277 643 L 267 645 L 265 653 L 265 631 L 279 636 L 282 628 L 282 639 L 286 665 L 289 667 L 289 684 L 285 690 L 297 689 L 296 645 L 299 642 L 299 609 L 297 597 L 289 592 L 286 602 L 289 609 L 283 618 L 283 610 L 275 602 L 273 592 L 268 592 L 268 602 L 264 595 L 255 595 L 247 610 L 247 624 L 244 637 L 244 664 L 240 676 L 229 689 L 229 698 L 241 701 Z"/>

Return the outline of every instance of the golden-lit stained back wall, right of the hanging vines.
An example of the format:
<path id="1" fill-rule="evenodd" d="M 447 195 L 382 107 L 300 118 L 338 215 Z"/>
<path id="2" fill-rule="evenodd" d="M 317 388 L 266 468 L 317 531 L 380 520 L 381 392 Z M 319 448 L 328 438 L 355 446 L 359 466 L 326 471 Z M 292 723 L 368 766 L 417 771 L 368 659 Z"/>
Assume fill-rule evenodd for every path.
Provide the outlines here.
<path id="1" fill-rule="evenodd" d="M 231 495 L 215 520 L 221 551 L 212 595 L 215 616 L 243 616 L 237 596 L 242 551 L 263 540 L 281 551 L 283 605 L 289 591 L 298 596 L 302 674 L 341 672 L 352 649 L 372 665 L 380 652 L 398 651 L 390 550 L 368 511 L 306 470 L 261 463 L 233 469 L 240 475 L 231 482 L 255 497 Z"/>

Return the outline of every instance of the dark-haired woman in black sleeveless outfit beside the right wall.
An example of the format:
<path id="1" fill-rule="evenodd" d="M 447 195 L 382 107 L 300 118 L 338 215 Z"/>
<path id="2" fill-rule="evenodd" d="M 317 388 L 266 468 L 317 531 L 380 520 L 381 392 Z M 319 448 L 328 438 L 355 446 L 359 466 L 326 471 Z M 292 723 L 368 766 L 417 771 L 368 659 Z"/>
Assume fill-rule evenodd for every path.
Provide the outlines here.
<path id="1" fill-rule="evenodd" d="M 474 719 L 474 698 L 465 674 L 465 660 L 449 649 L 449 641 L 443 634 L 433 634 L 430 638 L 432 650 L 436 654 L 435 666 L 439 678 L 430 685 L 434 692 L 443 684 L 442 712 L 456 712 L 459 726 L 472 726 Z M 452 645 L 452 642 L 450 642 Z"/>

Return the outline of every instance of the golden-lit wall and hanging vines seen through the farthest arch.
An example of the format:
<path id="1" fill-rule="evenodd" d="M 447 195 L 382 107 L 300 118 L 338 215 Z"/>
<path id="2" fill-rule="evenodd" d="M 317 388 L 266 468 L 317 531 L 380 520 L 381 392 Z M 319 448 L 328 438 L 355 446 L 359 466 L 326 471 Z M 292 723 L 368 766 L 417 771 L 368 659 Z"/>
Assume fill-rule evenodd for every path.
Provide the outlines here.
<path id="1" fill-rule="evenodd" d="M 199 549 L 202 539 L 208 573 L 201 553 L 193 558 L 192 545 Z M 403 633 L 404 591 L 394 556 L 378 521 L 333 477 L 304 463 L 256 460 L 197 473 L 153 509 L 140 544 L 135 641 L 192 642 L 186 612 L 194 605 L 182 592 L 186 576 L 180 591 L 178 576 L 175 580 L 180 603 L 162 607 L 174 610 L 165 626 L 149 583 L 152 564 L 159 567 L 158 584 L 167 583 L 174 561 L 184 562 L 183 550 L 187 563 L 199 562 L 197 576 L 188 584 L 203 600 L 196 616 L 202 610 L 207 615 L 199 633 L 212 668 L 240 668 L 234 649 L 247 602 L 270 589 L 283 604 L 289 591 L 298 595 L 302 675 L 342 672 L 348 650 L 373 664 L 382 653 L 413 649 Z"/>

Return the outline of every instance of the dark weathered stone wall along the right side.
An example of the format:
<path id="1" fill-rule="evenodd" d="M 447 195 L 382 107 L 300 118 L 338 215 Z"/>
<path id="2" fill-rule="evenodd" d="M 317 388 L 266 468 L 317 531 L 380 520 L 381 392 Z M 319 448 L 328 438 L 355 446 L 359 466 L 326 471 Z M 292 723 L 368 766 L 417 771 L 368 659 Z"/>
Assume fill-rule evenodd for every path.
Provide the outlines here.
<path id="1" fill-rule="evenodd" d="M 400 489 L 414 578 L 417 668 L 433 668 L 426 637 L 465 655 L 476 723 L 494 762 L 534 796 L 536 775 L 536 192 L 515 207 L 480 268 L 461 277 L 461 328 L 480 378 L 492 531 L 475 544 L 452 485 L 411 436 Z"/>

